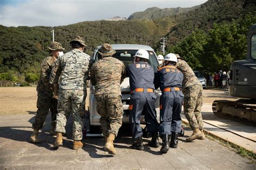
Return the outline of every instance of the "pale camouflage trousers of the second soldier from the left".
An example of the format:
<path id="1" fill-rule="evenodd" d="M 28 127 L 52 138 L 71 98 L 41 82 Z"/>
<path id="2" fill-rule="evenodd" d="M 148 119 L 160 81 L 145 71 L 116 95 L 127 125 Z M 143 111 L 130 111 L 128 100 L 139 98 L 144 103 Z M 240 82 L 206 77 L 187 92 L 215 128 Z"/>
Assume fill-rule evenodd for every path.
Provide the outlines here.
<path id="1" fill-rule="evenodd" d="M 73 140 L 82 140 L 85 114 L 84 90 L 59 90 L 58 114 L 56 118 L 56 132 L 66 133 L 66 118 L 69 114 L 73 116 Z"/>

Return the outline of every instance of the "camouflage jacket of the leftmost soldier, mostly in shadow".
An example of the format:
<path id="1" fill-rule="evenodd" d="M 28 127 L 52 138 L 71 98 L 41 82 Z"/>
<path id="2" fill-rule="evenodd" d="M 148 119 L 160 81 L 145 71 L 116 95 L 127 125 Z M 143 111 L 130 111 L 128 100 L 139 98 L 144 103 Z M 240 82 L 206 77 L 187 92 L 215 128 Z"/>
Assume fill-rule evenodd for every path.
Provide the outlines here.
<path id="1" fill-rule="evenodd" d="M 55 58 L 53 56 L 48 56 L 41 63 L 41 74 L 37 84 L 38 93 L 49 93 L 52 95 L 52 90 L 50 88 L 49 77 L 51 74 L 51 69 L 53 67 L 53 63 L 55 62 Z"/>

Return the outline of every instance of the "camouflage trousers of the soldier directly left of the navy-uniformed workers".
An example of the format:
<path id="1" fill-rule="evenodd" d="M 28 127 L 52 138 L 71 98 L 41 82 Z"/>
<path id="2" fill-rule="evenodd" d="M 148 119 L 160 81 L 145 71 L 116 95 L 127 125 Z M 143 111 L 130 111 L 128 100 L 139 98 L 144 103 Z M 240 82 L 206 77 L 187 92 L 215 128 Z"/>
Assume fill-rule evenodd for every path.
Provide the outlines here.
<path id="1" fill-rule="evenodd" d="M 105 137 L 109 133 L 117 136 L 119 128 L 122 126 L 123 104 L 121 96 L 117 94 L 95 95 L 97 112 L 100 115 L 100 125 Z"/>

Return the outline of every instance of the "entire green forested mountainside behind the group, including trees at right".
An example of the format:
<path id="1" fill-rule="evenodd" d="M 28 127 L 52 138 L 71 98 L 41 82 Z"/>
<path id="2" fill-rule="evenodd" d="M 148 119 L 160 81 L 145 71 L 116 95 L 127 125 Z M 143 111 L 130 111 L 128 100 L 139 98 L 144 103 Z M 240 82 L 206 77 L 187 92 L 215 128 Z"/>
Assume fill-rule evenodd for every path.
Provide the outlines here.
<path id="1" fill-rule="evenodd" d="M 146 11 L 152 10 L 159 11 L 157 8 Z M 161 16 L 160 12 L 151 15 L 147 20 L 131 18 L 118 22 L 100 20 L 57 27 L 0 25 L 0 80 L 16 81 L 27 77 L 26 80 L 29 81 L 29 77 L 33 77 L 32 74 L 38 75 L 40 62 L 49 55 L 47 47 L 51 44 L 52 29 L 55 30 L 55 41 L 66 48 L 65 52 L 71 49 L 69 42 L 75 35 L 85 38 L 88 54 L 92 54 L 95 47 L 104 42 L 150 45 L 155 51 L 160 51 L 159 38 L 167 37 L 167 52 L 176 52 L 185 56 L 192 68 L 212 71 L 224 63 L 227 68 L 232 60 L 243 57 L 246 49 L 246 32 L 250 25 L 256 23 L 254 16 L 256 16 L 254 0 L 209 0 L 188 12 L 174 15 L 170 12 L 170 17 Z M 148 17 L 147 13 L 141 16 L 141 18 Z M 215 35 L 220 37 L 214 37 Z M 230 37 L 221 38 L 226 35 Z M 237 41 L 237 44 L 233 43 L 230 48 L 230 41 Z M 218 45 L 213 46 L 214 44 Z M 242 51 L 239 57 L 235 54 L 235 50 L 238 49 Z M 206 54 L 206 50 L 210 52 Z M 225 50 L 225 55 L 221 55 L 223 54 L 221 50 Z M 228 59 L 221 60 L 215 57 L 211 61 L 221 60 L 218 61 L 218 65 L 206 65 L 210 60 L 203 58 L 203 55 L 211 58 L 217 54 Z M 16 78 L 11 76 L 14 74 Z M 23 76 L 18 77 L 18 75 Z"/>

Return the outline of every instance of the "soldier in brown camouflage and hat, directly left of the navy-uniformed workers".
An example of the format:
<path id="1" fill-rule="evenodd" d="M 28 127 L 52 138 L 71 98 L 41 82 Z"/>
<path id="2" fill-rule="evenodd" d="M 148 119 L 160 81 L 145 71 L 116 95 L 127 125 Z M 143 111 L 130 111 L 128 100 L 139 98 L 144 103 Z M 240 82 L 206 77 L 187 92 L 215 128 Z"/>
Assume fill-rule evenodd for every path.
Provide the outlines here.
<path id="1" fill-rule="evenodd" d="M 96 108 L 106 140 L 104 150 L 109 154 L 117 154 L 113 141 L 122 126 L 123 103 L 120 84 L 125 78 L 125 66 L 122 61 L 112 57 L 116 51 L 110 44 L 104 43 L 98 52 L 102 58 L 92 65 L 91 83 L 95 86 Z"/>

